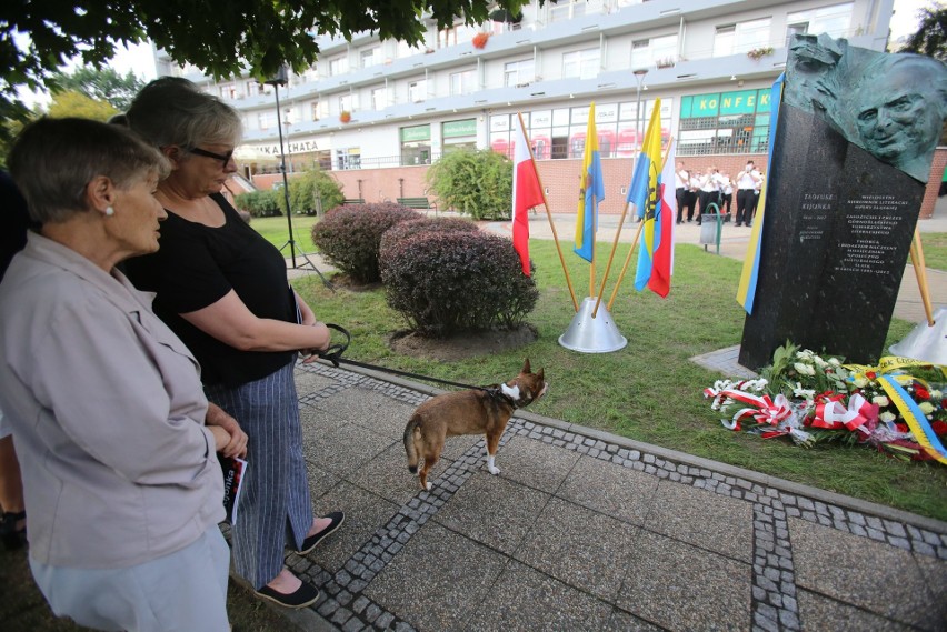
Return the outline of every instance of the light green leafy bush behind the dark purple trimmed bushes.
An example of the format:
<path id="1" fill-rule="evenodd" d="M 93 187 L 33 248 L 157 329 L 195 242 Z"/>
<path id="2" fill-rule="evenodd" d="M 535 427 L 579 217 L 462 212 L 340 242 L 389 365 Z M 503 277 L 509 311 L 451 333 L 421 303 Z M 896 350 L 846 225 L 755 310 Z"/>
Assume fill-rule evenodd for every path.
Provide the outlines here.
<path id="1" fill-rule="evenodd" d="M 512 162 L 489 149 L 452 151 L 428 170 L 428 183 L 446 205 L 476 220 L 510 219 Z"/>

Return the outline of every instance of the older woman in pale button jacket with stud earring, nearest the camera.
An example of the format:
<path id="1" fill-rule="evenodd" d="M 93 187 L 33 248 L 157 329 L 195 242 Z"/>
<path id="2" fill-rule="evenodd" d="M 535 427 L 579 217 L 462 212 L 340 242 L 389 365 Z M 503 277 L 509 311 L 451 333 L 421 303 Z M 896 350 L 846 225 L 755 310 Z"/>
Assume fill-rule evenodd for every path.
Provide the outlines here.
<path id="1" fill-rule="evenodd" d="M 129 130 L 41 119 L 9 165 L 40 224 L 0 283 L 0 400 L 37 584 L 90 628 L 227 631 L 215 452 L 247 437 L 116 268 L 158 250 L 167 161 Z"/>

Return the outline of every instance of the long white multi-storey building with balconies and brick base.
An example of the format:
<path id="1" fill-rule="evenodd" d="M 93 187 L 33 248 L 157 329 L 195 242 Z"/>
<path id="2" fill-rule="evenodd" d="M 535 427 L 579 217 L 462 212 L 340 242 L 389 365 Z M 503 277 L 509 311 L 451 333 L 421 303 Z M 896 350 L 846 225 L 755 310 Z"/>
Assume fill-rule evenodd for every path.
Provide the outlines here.
<path id="1" fill-rule="evenodd" d="M 319 61 L 275 88 L 253 78 L 211 80 L 158 57 L 243 119 L 245 175 L 275 181 L 313 163 L 346 197 L 428 194 L 423 174 L 458 148 L 511 152 L 522 116 L 550 205 L 575 207 L 590 102 L 606 183 L 627 185 L 652 106 L 691 168 L 765 161 L 769 88 L 794 33 L 827 32 L 883 51 L 894 0 L 534 0 L 521 16 L 484 24 L 428 24 L 417 47 L 360 33 L 318 38 Z M 279 90 L 279 111 L 275 90 Z M 282 152 L 280 130 L 282 126 Z M 572 173 L 575 171 L 575 173 Z M 267 174 L 269 172 L 269 175 Z M 604 212 L 620 212 L 620 195 Z M 556 208 L 556 207 L 562 208 Z"/>

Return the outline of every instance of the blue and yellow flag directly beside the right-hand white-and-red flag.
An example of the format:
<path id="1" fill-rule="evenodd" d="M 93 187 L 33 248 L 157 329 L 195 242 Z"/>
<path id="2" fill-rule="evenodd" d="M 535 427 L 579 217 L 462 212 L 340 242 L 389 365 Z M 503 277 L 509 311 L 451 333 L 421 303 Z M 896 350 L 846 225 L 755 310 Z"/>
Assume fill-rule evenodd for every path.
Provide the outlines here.
<path id="1" fill-rule="evenodd" d="M 661 173 L 661 100 L 655 101 L 651 108 L 651 119 L 645 142 L 635 164 L 631 185 L 628 188 L 627 201 L 635 204 L 635 213 L 644 222 L 641 224 L 641 249 L 638 251 L 638 271 L 635 273 L 635 289 L 639 292 L 651 278 L 655 251 L 661 243 L 661 231 L 656 210 L 660 191 Z"/>

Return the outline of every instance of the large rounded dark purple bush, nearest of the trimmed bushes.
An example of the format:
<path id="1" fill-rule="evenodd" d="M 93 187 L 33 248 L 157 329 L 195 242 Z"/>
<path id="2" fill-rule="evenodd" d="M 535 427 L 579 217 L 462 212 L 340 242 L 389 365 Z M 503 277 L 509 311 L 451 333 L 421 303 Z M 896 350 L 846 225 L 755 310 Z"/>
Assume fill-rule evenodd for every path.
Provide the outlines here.
<path id="1" fill-rule="evenodd" d="M 510 240 L 480 231 L 388 240 L 381 279 L 391 309 L 429 337 L 512 329 L 539 298 Z"/>

